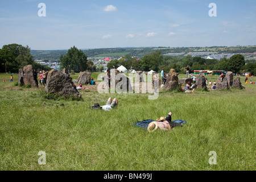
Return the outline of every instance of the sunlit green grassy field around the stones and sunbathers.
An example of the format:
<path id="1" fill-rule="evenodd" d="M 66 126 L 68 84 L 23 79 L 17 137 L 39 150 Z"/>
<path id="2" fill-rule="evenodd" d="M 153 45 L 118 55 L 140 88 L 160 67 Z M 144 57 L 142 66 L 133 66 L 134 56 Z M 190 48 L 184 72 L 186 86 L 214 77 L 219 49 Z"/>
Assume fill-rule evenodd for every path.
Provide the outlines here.
<path id="1" fill-rule="evenodd" d="M 256 85 L 244 84 L 244 77 L 245 90 L 160 92 L 158 100 L 81 90 L 81 101 L 49 99 L 42 87 L 14 86 L 17 78 L 10 82 L 10 75 L 0 74 L 0 170 L 256 169 Z M 89 109 L 109 97 L 118 98 L 117 109 Z M 170 111 L 172 120 L 187 124 L 154 133 L 133 126 Z M 45 165 L 38 163 L 39 151 L 46 154 Z M 216 165 L 209 164 L 210 151 L 217 154 Z"/>

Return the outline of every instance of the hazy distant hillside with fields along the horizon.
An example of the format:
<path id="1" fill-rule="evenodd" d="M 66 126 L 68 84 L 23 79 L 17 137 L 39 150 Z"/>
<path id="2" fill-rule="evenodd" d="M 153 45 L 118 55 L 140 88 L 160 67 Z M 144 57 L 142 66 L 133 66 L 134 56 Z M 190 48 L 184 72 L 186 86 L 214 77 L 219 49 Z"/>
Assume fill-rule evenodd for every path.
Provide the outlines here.
<path id="1" fill-rule="evenodd" d="M 188 53 L 188 52 L 217 52 L 217 53 L 253 53 L 256 46 L 214 46 L 214 47 L 126 47 L 126 48 L 98 48 L 82 49 L 87 57 L 121 57 L 126 55 L 143 57 L 155 51 L 166 53 Z M 47 60 L 59 59 L 60 55 L 66 55 L 68 50 L 31 50 L 34 59 Z"/>

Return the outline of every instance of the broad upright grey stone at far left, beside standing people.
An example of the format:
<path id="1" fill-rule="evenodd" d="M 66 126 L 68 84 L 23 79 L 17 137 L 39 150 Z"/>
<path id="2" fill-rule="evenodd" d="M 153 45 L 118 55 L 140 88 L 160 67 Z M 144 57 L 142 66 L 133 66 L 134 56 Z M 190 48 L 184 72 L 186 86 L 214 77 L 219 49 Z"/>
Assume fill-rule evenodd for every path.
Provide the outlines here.
<path id="1" fill-rule="evenodd" d="M 21 71 L 20 74 L 22 75 Z M 20 75 L 20 78 L 22 77 Z M 23 67 L 23 82 L 24 85 L 31 85 L 38 87 L 37 74 L 32 68 L 32 65 L 26 65 Z"/>

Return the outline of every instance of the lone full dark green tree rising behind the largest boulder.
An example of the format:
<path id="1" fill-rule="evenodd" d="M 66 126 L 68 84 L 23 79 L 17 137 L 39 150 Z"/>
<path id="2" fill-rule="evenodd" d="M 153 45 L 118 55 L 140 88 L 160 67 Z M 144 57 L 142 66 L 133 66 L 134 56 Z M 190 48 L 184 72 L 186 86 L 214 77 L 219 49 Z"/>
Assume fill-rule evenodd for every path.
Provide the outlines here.
<path id="1" fill-rule="evenodd" d="M 86 71 L 88 68 L 87 57 L 84 52 L 77 49 L 75 46 L 68 49 L 67 55 L 60 56 L 60 66 L 61 68 L 68 69 L 75 72 Z"/>

